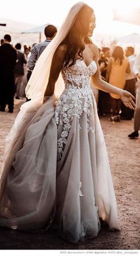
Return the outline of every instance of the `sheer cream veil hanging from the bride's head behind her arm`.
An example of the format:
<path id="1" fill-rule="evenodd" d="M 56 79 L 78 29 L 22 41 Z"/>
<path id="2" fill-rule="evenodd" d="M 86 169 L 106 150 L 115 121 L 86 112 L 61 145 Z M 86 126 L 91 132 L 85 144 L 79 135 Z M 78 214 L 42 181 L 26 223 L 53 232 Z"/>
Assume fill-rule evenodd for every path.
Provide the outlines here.
<path id="1" fill-rule="evenodd" d="M 40 55 L 40 58 L 36 63 L 36 66 L 26 87 L 27 98 L 35 99 L 37 97 L 43 97 L 44 90 L 46 89 L 49 79 L 49 71 L 50 65 L 52 63 L 53 54 L 55 53 L 59 44 L 68 34 L 69 30 L 72 27 L 72 24 L 74 24 L 75 18 L 77 17 L 79 10 L 81 10 L 83 5 L 84 2 L 78 2 L 71 8 L 55 38 L 52 40 L 52 42 L 49 43 L 49 46 L 44 49 L 43 54 Z M 60 96 L 63 89 L 64 84 L 60 74 L 58 81 L 55 85 L 55 95 Z"/>

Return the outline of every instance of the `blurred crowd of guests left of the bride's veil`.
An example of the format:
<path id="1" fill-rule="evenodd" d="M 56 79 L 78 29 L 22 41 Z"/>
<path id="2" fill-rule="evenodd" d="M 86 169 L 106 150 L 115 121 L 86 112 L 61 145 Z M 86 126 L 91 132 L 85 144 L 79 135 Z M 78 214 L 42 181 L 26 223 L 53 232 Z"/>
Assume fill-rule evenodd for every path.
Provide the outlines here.
<path id="1" fill-rule="evenodd" d="M 36 61 L 56 35 L 57 29 L 49 25 L 44 29 L 46 40 L 31 47 L 21 43 L 11 45 L 11 36 L 5 35 L 0 46 L 0 111 L 8 105 L 9 113 L 14 111 L 14 98 L 26 97 L 25 89 Z M 26 99 L 28 101 L 28 99 Z"/>

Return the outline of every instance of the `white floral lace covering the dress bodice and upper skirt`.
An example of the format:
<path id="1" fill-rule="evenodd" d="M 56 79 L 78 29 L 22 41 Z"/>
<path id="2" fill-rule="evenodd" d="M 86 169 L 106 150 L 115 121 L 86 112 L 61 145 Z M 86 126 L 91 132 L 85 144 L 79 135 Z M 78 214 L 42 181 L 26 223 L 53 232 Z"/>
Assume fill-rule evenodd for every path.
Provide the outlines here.
<path id="1" fill-rule="evenodd" d="M 58 161 L 61 160 L 63 150 L 71 129 L 72 120 L 87 114 L 88 132 L 93 132 L 95 126 L 90 126 L 91 108 L 93 108 L 93 98 L 90 88 L 90 76 L 97 70 L 94 62 L 90 65 L 84 61 L 77 61 L 72 67 L 62 69 L 62 77 L 65 82 L 65 90 L 60 96 L 55 109 L 56 124 L 62 126 L 61 138 L 58 139 Z M 80 123 L 79 130 L 81 130 Z"/>

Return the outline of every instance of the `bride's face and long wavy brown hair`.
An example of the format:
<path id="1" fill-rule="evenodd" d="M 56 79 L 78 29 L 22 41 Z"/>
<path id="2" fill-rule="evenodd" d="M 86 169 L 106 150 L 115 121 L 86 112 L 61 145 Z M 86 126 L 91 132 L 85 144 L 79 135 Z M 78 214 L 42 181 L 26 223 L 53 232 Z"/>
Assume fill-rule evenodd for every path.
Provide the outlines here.
<path id="1" fill-rule="evenodd" d="M 66 47 L 66 55 L 65 55 L 65 66 L 69 64 L 69 61 L 72 61 L 69 64 L 69 67 L 76 63 L 75 55 L 78 54 L 79 58 L 83 60 L 82 52 L 85 49 L 85 45 L 81 40 L 83 35 L 88 34 L 89 26 L 90 26 L 90 18 L 93 14 L 93 9 L 89 7 L 87 4 L 79 11 L 77 18 L 69 31 L 66 38 L 63 40 L 61 44 L 65 44 Z M 85 36 L 85 43 L 92 43 L 91 39 L 88 36 Z"/>

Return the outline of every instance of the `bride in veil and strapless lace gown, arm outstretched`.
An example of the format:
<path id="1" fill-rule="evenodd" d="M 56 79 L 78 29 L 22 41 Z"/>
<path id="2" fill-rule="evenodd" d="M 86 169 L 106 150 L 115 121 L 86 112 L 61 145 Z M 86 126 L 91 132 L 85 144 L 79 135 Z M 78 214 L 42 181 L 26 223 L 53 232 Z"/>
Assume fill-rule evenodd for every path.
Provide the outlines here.
<path id="1" fill-rule="evenodd" d="M 95 27 L 93 9 L 78 2 L 37 61 L 26 88 L 31 101 L 7 136 L 1 226 L 43 232 L 55 225 L 70 242 L 96 237 L 101 220 L 120 230 L 90 80 L 135 104 L 131 93 L 100 79 Z"/>

